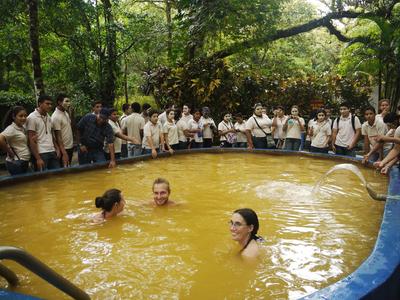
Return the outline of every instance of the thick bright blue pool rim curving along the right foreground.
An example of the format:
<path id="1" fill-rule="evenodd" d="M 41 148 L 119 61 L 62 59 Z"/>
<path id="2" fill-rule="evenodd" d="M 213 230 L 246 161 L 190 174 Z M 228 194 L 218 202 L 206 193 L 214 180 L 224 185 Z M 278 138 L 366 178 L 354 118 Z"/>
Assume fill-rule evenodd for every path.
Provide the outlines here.
<path id="1" fill-rule="evenodd" d="M 400 171 L 390 172 L 388 198 L 371 255 L 350 275 L 302 299 L 400 298 Z"/>

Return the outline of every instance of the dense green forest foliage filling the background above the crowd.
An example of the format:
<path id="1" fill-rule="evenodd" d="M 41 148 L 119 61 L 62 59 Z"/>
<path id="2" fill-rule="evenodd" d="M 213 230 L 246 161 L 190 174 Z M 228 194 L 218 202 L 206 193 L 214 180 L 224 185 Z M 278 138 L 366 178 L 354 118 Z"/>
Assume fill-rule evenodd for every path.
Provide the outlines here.
<path id="1" fill-rule="evenodd" d="M 333 10 L 354 7 L 357 2 L 358 10 L 376 12 L 392 1 L 329 2 L 335 4 Z M 339 2 L 342 7 L 337 5 Z M 105 16 L 106 3 L 39 1 L 46 92 L 67 93 L 79 114 L 87 112 L 95 99 L 111 105 L 112 99 L 105 97 L 107 89 L 115 92 L 116 105 L 125 101 L 123 95 L 127 92 L 129 99 L 136 99 L 139 93 L 144 97 L 154 94 L 154 104 L 159 107 L 178 99 L 220 111 L 248 111 L 256 100 L 272 104 L 274 97 L 280 97 L 287 105 L 296 101 L 295 96 L 286 98 L 273 88 L 279 86 L 297 95 L 306 109 L 310 97 L 339 97 L 330 89 L 329 97 L 323 94 L 327 89 L 323 81 L 335 78 L 336 72 L 352 78 L 350 86 L 356 86 L 361 77 L 368 86 L 373 78 L 381 81 L 382 93 L 393 99 L 398 93 L 394 88 L 400 53 L 398 8 L 387 18 L 371 16 L 344 23 L 342 32 L 352 37 L 368 36 L 371 42 L 349 45 L 341 57 L 343 44 L 326 30 L 318 29 L 262 48 L 237 49 L 226 61 L 207 61 L 204 57 L 216 51 L 252 39 L 262 40 L 319 14 L 306 0 L 176 0 L 168 2 L 170 10 L 166 1 L 113 0 L 108 11 L 110 21 Z M 0 10 L 0 90 L 22 98 L 33 97 L 26 3 L 3 0 Z M 115 49 L 109 47 L 114 35 Z M 116 53 L 111 55 L 110 49 Z M 115 86 L 109 85 L 113 77 Z"/>

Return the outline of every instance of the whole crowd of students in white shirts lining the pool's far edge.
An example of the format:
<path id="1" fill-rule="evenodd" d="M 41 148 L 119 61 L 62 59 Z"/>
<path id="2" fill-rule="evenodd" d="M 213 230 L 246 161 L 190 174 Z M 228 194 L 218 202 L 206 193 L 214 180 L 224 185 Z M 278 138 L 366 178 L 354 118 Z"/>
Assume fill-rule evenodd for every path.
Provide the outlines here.
<path id="1" fill-rule="evenodd" d="M 389 112 L 386 99 L 379 102 L 380 114 L 373 107 L 364 110 L 362 125 L 347 103 L 340 104 L 340 115 L 334 120 L 331 109 L 326 107 L 319 109 L 307 125 L 295 105 L 288 115 L 282 106 L 276 107 L 270 118 L 266 108 L 257 103 L 247 120 L 237 113 L 234 121 L 232 114 L 226 112 L 217 125 L 208 107 L 191 111 L 188 105 L 182 109 L 171 105 L 159 114 L 150 105 L 134 102 L 124 104 L 123 114 L 118 116 L 116 109 L 104 108 L 100 101 L 95 101 L 92 111 L 73 126 L 68 113 L 70 99 L 59 95 L 53 112 L 52 105 L 52 98 L 44 95 L 29 115 L 21 106 L 10 110 L 0 134 L 0 148 L 7 154 L 6 167 L 11 175 L 70 166 L 74 140 L 79 164 L 109 161 L 110 167 L 120 158 L 142 154 L 156 158 L 163 151 L 173 154 L 176 150 L 213 145 L 332 151 L 355 156 L 361 135 L 363 162 L 375 162 L 382 173 L 388 172 L 400 153 L 399 113 Z"/>

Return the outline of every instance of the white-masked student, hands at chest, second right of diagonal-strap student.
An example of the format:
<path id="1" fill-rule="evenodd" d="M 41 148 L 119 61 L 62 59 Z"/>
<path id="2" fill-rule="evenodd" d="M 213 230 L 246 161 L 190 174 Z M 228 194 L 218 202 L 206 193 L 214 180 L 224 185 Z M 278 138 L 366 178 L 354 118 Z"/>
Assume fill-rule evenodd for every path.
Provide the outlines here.
<path id="1" fill-rule="evenodd" d="M 283 125 L 283 130 L 286 132 L 285 150 L 299 151 L 301 144 L 301 132 L 304 131 L 304 119 L 299 116 L 299 108 L 293 105 L 291 115 L 287 118 Z"/>

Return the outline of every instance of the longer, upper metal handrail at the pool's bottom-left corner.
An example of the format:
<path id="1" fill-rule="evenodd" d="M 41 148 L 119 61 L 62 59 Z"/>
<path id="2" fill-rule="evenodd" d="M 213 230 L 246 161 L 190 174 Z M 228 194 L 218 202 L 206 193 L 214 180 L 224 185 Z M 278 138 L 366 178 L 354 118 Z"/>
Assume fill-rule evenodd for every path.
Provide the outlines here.
<path id="1" fill-rule="evenodd" d="M 11 259 L 19 263 L 74 299 L 90 299 L 83 290 L 21 248 L 0 246 L 0 259 Z"/>

